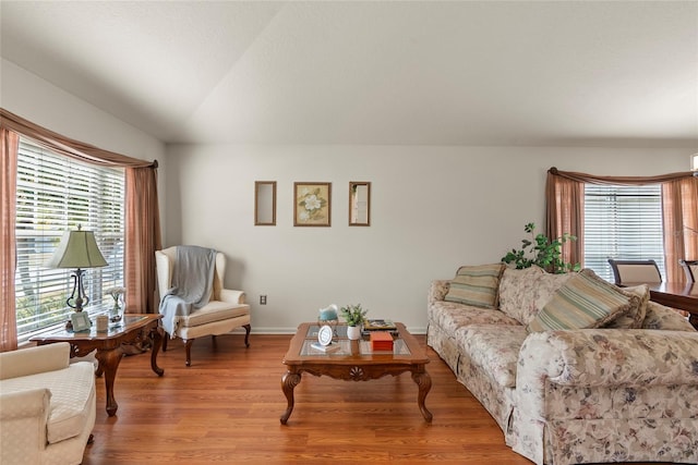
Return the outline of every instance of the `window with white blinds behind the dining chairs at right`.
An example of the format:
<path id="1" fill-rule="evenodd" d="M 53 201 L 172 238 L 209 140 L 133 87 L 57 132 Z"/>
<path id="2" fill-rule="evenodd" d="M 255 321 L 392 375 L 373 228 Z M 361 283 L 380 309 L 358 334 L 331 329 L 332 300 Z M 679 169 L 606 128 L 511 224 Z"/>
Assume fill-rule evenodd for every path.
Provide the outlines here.
<path id="1" fill-rule="evenodd" d="M 666 276 L 661 185 L 585 185 L 585 266 L 613 282 L 609 258 L 653 259 Z"/>

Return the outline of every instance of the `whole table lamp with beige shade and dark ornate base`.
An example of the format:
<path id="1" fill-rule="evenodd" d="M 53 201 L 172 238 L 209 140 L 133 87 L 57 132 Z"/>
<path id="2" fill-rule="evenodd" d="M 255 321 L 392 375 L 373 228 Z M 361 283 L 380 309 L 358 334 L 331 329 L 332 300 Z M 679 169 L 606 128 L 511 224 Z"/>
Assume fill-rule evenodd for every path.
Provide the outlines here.
<path id="1" fill-rule="evenodd" d="M 82 311 L 83 307 L 89 303 L 89 297 L 85 294 L 83 284 L 84 269 L 106 266 L 107 260 L 105 260 L 99 247 L 97 247 L 95 233 L 83 231 L 80 224 L 77 225 L 77 231 L 65 231 L 53 256 L 46 262 L 48 268 L 75 268 L 75 271 L 71 274 L 73 292 L 65 301 L 68 306 L 74 308 L 75 311 Z M 74 326 L 75 321 L 73 321 Z M 80 331 L 75 328 L 73 330 Z"/>

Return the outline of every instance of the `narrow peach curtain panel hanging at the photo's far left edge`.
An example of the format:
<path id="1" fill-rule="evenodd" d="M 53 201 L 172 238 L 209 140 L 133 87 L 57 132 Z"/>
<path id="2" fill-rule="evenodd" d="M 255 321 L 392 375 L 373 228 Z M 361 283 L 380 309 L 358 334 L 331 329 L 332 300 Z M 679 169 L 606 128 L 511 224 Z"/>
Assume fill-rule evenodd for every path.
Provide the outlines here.
<path id="1" fill-rule="evenodd" d="M 20 136 L 0 127 L 0 352 L 7 352 L 17 348 L 14 228 Z"/>

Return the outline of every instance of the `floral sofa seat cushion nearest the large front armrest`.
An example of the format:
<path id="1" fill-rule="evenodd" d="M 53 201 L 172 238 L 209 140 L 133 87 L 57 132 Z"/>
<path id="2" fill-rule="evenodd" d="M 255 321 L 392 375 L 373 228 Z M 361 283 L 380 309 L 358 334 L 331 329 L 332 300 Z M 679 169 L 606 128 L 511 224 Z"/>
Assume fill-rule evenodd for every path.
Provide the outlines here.
<path id="1" fill-rule="evenodd" d="M 516 386 L 516 364 L 527 336 L 520 325 L 471 325 L 456 331 L 464 353 L 503 388 Z"/>

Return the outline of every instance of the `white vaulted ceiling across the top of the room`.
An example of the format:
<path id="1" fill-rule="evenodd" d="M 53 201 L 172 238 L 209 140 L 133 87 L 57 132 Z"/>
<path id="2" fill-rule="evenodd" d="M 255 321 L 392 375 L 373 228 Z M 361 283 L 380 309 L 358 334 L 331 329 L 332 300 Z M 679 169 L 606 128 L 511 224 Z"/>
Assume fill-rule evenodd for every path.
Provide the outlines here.
<path id="1" fill-rule="evenodd" d="M 0 2 L 1 54 L 167 143 L 698 147 L 698 2 Z"/>

